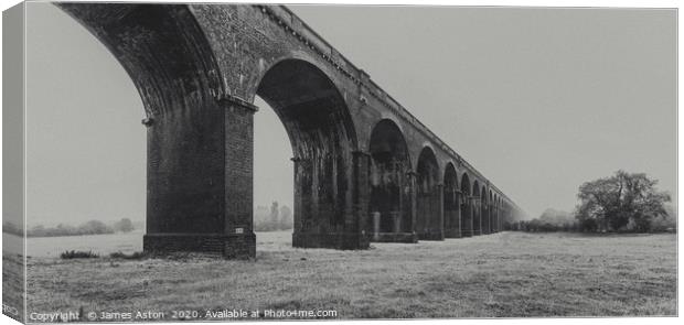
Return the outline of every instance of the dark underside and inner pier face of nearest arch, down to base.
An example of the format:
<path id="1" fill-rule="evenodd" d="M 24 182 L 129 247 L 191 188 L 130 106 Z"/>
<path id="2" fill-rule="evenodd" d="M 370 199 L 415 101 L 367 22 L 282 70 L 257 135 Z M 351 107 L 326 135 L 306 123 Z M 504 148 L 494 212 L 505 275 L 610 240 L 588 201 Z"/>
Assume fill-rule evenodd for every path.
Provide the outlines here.
<path id="1" fill-rule="evenodd" d="M 146 251 L 224 251 L 226 130 L 212 47 L 188 6 L 57 3 L 131 77 L 147 119 Z M 238 189 L 239 192 L 239 189 Z M 250 205 L 250 203 L 249 203 Z M 249 212 L 246 212 L 250 216 Z M 238 213 L 239 214 L 239 213 Z M 250 228 L 239 240 L 252 242 Z M 245 248 L 253 253 L 253 246 Z"/>

